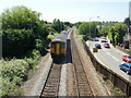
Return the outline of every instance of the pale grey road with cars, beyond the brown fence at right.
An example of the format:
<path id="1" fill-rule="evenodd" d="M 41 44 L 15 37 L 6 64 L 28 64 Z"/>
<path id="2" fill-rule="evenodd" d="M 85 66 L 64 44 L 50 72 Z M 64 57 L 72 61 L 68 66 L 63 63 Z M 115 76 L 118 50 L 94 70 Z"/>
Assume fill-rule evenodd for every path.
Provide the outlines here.
<path id="1" fill-rule="evenodd" d="M 93 53 L 93 48 L 95 47 L 95 44 L 100 44 L 102 49 L 98 49 L 98 52 Z M 112 70 L 114 72 L 126 78 L 127 81 L 131 82 L 131 75 L 128 75 L 126 72 L 119 69 L 119 64 L 124 63 L 122 61 L 122 56 L 126 53 L 114 48 L 111 45 L 110 45 L 110 49 L 105 48 L 104 44 L 105 42 L 100 42 L 100 38 L 99 41 L 91 41 L 91 40 L 86 41 L 86 45 L 90 47 L 92 53 L 102 64 Z"/>

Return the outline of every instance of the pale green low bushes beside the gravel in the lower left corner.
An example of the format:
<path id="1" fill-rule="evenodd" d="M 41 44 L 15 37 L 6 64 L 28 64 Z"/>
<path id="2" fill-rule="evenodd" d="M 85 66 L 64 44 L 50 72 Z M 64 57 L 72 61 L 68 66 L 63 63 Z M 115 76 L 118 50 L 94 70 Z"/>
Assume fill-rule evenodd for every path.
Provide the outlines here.
<path id="1" fill-rule="evenodd" d="M 35 68 L 40 58 L 38 50 L 32 52 L 32 58 L 25 59 L 1 59 L 0 72 L 2 87 L 0 87 L 0 95 L 2 96 L 19 96 L 22 95 L 23 89 L 21 85 L 27 79 L 27 72 Z"/>

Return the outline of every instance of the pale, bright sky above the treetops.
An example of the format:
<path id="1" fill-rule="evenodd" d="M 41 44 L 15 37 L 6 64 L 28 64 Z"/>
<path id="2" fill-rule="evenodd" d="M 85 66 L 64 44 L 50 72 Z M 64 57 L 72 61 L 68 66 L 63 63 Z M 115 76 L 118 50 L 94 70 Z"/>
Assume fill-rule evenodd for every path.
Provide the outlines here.
<path id="1" fill-rule="evenodd" d="M 130 0 L 0 0 L 0 14 L 5 9 L 25 5 L 41 13 L 40 19 L 52 22 L 123 22 L 129 16 Z"/>

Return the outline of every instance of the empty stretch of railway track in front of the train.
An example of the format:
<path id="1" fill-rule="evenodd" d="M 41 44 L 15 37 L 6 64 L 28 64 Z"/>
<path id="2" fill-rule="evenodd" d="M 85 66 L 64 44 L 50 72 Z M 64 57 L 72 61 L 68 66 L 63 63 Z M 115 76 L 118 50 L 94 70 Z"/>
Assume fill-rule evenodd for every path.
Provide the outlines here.
<path id="1" fill-rule="evenodd" d="M 40 97 L 55 97 L 59 93 L 61 64 L 52 63 Z"/>

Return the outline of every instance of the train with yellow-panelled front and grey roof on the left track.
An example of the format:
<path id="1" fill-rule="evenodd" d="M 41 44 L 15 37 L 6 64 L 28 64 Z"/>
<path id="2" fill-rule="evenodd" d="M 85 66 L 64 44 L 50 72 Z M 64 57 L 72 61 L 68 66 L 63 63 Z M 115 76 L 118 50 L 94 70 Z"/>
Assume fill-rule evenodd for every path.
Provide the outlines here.
<path id="1" fill-rule="evenodd" d="M 68 37 L 68 32 L 62 30 L 50 42 L 50 54 L 53 61 L 61 62 L 64 59 L 66 50 L 67 50 L 67 37 Z"/>

